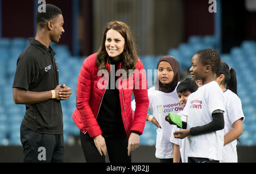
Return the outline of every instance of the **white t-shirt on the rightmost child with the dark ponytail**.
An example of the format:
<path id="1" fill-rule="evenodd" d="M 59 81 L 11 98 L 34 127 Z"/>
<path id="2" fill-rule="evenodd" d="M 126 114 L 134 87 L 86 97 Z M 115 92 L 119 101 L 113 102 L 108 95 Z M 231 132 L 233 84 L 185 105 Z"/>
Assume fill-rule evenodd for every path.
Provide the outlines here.
<path id="1" fill-rule="evenodd" d="M 233 129 L 233 123 L 238 119 L 243 118 L 245 120 L 245 116 L 243 115 L 242 103 L 237 94 L 233 93 L 231 90 L 226 90 L 224 92 L 224 103 L 225 103 L 225 127 L 224 127 L 224 135 L 226 135 L 230 130 Z M 237 140 L 233 140 L 224 146 L 224 151 L 222 154 L 221 163 L 237 163 Z"/>

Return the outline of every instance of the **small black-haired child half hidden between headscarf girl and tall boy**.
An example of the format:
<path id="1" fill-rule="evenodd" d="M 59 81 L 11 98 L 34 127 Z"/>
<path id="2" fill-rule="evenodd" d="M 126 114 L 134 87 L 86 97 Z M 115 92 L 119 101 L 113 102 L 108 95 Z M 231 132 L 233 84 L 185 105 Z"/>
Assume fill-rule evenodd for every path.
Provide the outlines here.
<path id="1" fill-rule="evenodd" d="M 197 88 L 198 86 L 192 78 L 185 78 L 185 80 L 180 82 L 177 86 L 176 92 L 181 106 L 185 107 L 188 96 L 195 92 Z M 183 111 L 180 111 L 179 115 L 181 117 L 181 121 L 187 122 L 187 117 L 183 115 Z M 172 124 L 169 117 L 166 117 L 166 121 Z M 180 128 L 177 126 L 172 127 L 172 132 L 177 130 L 180 130 Z M 182 161 L 182 163 L 188 162 L 186 155 L 186 141 L 187 138 L 178 139 L 174 137 L 174 134 L 171 135 L 170 142 L 174 143 L 174 163 L 180 163 L 180 161 Z"/>

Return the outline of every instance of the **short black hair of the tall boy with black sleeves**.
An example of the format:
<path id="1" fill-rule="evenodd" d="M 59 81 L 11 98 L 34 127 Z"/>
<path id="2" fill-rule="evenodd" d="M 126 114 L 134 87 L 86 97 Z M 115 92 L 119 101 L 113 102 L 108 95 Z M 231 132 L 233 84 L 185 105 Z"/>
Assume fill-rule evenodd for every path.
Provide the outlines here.
<path id="1" fill-rule="evenodd" d="M 196 55 L 199 56 L 199 59 L 203 65 L 210 65 L 213 73 L 216 73 L 218 65 L 221 63 L 221 58 L 215 49 L 201 49 L 196 52 Z"/>

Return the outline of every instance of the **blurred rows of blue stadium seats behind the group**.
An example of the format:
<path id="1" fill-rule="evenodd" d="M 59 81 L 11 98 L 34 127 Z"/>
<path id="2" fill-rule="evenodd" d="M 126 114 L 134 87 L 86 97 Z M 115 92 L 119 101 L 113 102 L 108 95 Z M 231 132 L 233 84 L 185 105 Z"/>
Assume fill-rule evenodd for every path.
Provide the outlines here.
<path id="1" fill-rule="evenodd" d="M 26 111 L 24 105 L 15 105 L 13 101 L 13 80 L 16 60 L 28 45 L 24 38 L 0 39 L 0 146 L 21 146 L 20 124 Z M 59 67 L 60 84 L 65 83 L 72 88 L 72 95 L 67 101 L 61 101 L 63 108 L 64 140 L 67 144 L 74 143 L 73 136 L 79 136 L 79 129 L 72 120 L 73 110 L 76 108 L 76 83 L 86 57 L 73 57 L 67 45 L 52 44 L 57 52 L 56 60 Z M 199 49 L 215 48 L 216 40 L 213 36 L 191 36 L 187 43 L 181 43 L 177 48 L 171 48 L 167 55 L 176 57 L 181 69 L 191 67 L 191 58 Z M 139 56 L 147 73 L 148 88 L 154 86 L 156 64 L 162 55 Z M 241 135 L 243 146 L 256 145 L 256 43 L 244 41 L 240 47 L 234 47 L 230 53 L 221 55 L 222 60 L 237 72 L 238 95 L 242 101 L 245 121 Z M 67 71 L 68 70 L 68 71 Z M 151 79 L 151 80 L 150 80 Z M 132 97 L 134 99 L 134 96 Z M 141 135 L 141 145 L 154 146 L 156 140 L 156 126 L 146 122 Z"/>

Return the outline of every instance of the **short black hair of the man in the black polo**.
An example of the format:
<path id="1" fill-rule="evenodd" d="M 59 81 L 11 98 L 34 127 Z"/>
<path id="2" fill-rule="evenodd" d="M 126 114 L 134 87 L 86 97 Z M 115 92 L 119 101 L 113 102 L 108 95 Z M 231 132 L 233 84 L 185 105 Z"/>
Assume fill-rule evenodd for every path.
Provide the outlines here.
<path id="1" fill-rule="evenodd" d="M 58 15 L 62 15 L 62 11 L 55 5 L 47 4 L 46 12 L 36 13 L 36 26 L 43 27 L 43 23 L 48 22 L 51 19 L 56 18 Z"/>

